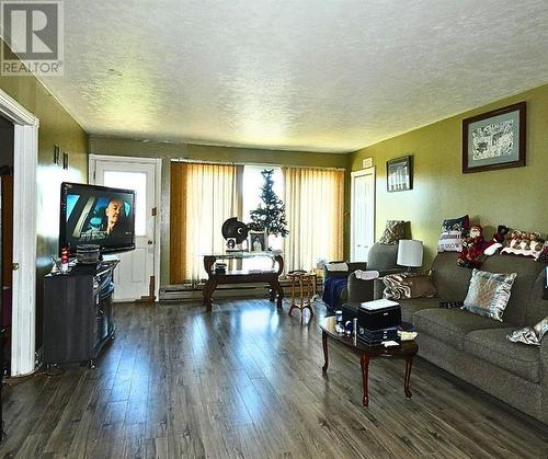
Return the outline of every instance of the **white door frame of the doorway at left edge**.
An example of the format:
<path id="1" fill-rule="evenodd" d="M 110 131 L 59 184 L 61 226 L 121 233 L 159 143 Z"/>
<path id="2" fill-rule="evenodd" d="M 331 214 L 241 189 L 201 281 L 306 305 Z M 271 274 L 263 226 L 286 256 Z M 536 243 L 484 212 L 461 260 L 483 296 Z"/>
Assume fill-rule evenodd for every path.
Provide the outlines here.
<path id="1" fill-rule="evenodd" d="M 36 347 L 36 169 L 39 119 L 0 90 L 0 114 L 14 126 L 11 375 L 34 371 Z"/>

